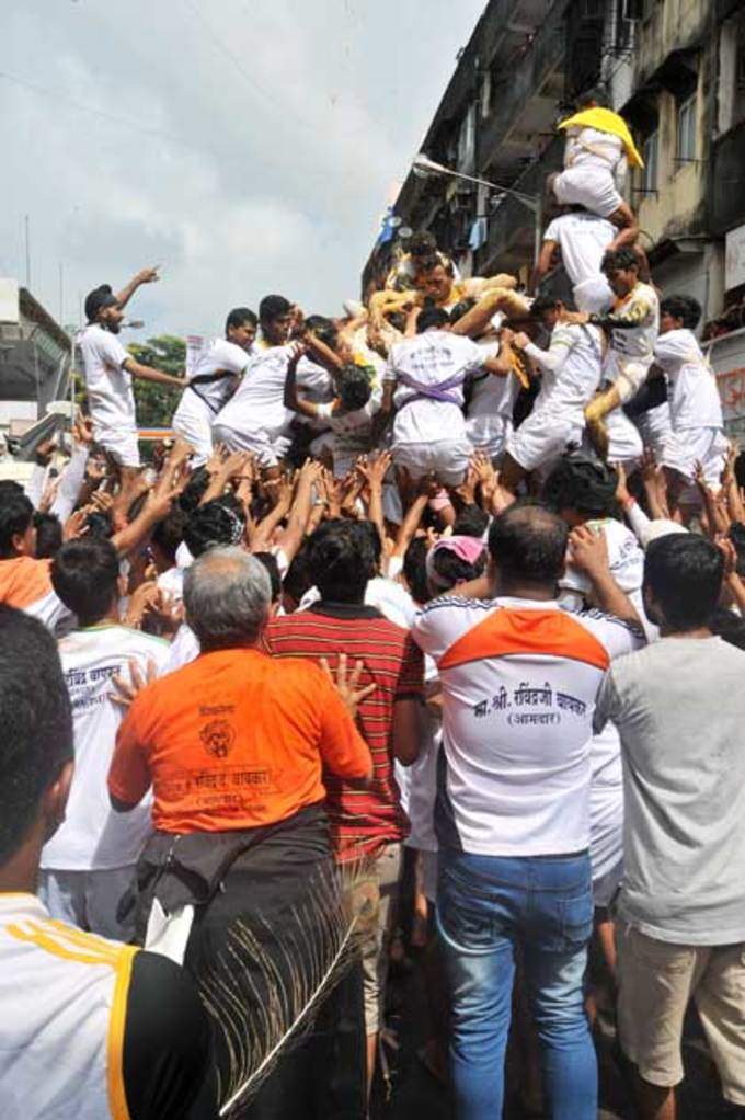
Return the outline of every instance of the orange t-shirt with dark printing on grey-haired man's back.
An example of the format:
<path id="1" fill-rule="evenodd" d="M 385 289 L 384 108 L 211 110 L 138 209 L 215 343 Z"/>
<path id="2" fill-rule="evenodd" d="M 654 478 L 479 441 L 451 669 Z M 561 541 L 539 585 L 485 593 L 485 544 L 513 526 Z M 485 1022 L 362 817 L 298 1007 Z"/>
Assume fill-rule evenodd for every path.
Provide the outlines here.
<path id="1" fill-rule="evenodd" d="M 134 700 L 109 791 L 137 804 L 153 786 L 164 832 L 223 832 L 285 820 L 326 795 L 322 766 L 371 773 L 370 750 L 326 674 L 258 650 L 205 653 Z"/>

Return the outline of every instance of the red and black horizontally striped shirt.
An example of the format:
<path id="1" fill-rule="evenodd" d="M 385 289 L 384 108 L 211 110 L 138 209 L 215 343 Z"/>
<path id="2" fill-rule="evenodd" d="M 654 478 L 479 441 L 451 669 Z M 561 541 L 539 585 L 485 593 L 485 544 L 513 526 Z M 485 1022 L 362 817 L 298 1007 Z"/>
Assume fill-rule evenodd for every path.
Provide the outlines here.
<path id="1" fill-rule="evenodd" d="M 423 698 L 425 691 L 423 659 L 409 632 L 375 607 L 322 601 L 274 618 L 263 643 L 276 657 L 326 657 L 332 669 L 339 653 L 346 653 L 350 670 L 363 661 L 360 684 L 374 682 L 375 691 L 361 702 L 357 726 L 370 747 L 373 777 L 365 784 L 324 773 L 332 843 L 337 859 L 346 861 L 403 840 L 409 822 L 393 774 L 393 704 L 407 697 Z"/>

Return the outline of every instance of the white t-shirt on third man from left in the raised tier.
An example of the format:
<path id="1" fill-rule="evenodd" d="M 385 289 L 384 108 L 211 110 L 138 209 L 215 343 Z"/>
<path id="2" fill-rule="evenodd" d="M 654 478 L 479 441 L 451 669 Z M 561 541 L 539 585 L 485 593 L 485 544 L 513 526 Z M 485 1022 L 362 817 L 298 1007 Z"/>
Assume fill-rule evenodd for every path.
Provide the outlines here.
<path id="1" fill-rule="evenodd" d="M 241 384 L 215 423 L 268 440 L 285 435 L 294 412 L 285 408 L 285 380 L 294 346 L 270 346 L 260 351 L 246 367 Z"/>

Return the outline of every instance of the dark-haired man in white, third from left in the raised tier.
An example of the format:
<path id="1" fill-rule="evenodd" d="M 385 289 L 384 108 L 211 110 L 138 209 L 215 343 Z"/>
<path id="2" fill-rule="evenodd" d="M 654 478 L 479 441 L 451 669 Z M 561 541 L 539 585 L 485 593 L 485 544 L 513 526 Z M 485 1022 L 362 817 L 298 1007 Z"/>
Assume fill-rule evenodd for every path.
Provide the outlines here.
<path id="1" fill-rule="evenodd" d="M 233 451 L 252 451 L 274 474 L 291 442 L 292 413 L 285 408 L 285 380 L 294 348 L 289 345 L 294 308 L 283 296 L 264 296 L 259 305 L 261 340 L 233 398 L 213 424 L 213 438 Z"/>

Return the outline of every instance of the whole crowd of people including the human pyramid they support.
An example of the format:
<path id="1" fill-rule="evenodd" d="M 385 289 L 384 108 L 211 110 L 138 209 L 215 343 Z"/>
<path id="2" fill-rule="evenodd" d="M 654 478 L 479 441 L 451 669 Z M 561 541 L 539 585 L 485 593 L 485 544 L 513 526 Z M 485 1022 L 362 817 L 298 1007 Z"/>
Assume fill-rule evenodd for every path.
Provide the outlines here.
<path id="1" fill-rule="evenodd" d="M 594 1120 L 600 1021 L 674 1118 L 691 1002 L 745 1109 L 738 450 L 624 122 L 562 127 L 528 290 L 413 234 L 183 379 L 118 337 L 156 270 L 89 295 L 68 454 L 0 482 L 7 1120 L 364 1120 L 402 927 L 458 1120 L 511 1030 Z M 147 465 L 133 377 L 179 394 Z"/>

